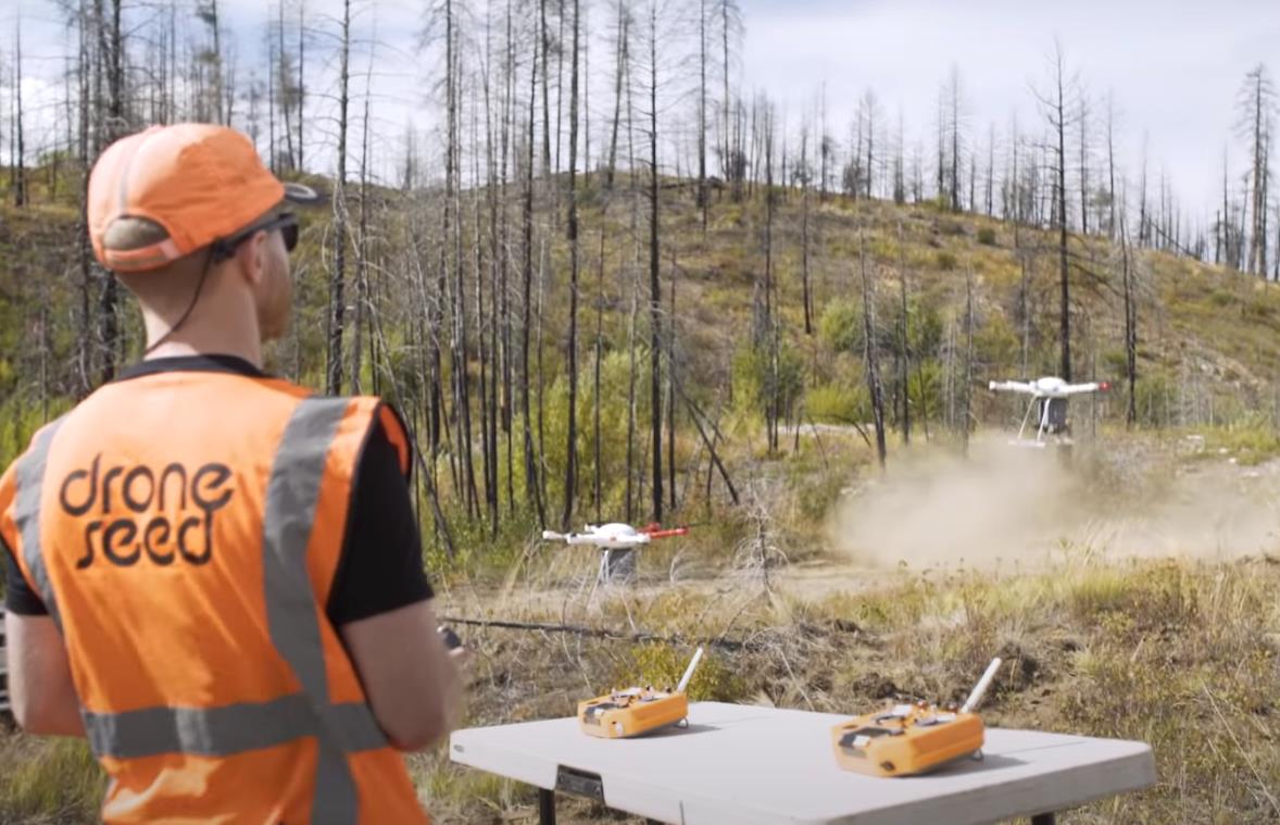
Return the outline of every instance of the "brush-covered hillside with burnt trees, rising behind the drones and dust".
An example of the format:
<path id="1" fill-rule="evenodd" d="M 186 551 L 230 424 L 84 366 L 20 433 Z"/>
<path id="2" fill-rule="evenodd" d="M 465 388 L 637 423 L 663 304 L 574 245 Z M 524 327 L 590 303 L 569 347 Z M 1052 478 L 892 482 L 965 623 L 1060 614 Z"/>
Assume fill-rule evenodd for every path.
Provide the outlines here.
<path id="1" fill-rule="evenodd" d="M 323 178 L 308 182 L 324 192 L 333 186 Z M 349 193 L 353 222 L 365 215 L 369 229 L 364 236 L 352 229 L 347 255 L 343 388 L 349 389 L 351 377 L 358 374 L 364 391 L 396 402 L 415 429 L 436 477 L 445 528 L 435 523 L 435 507 L 420 487 L 429 566 L 438 575 L 502 571 L 536 527 L 535 497 L 522 462 L 526 363 L 529 429 L 539 459 L 536 498 L 547 512 L 562 511 L 571 306 L 564 193 L 557 190 L 562 183 L 535 190 L 527 247 L 524 204 L 515 186 L 507 191 L 506 208 L 490 197 L 497 191 L 465 192 L 453 210 L 463 222 L 451 243 L 440 237 L 438 192 L 372 187 L 365 201 L 358 190 Z M 602 176 L 593 176 L 580 191 L 575 512 L 584 519 L 643 518 L 650 506 L 648 204 L 632 188 L 643 183 L 620 176 L 609 190 Z M 64 195 L 52 204 L 37 190 L 35 206 L 0 208 L 4 462 L 20 451 L 45 415 L 69 405 L 102 375 L 102 283 L 95 274 L 86 288 L 76 209 L 65 195 L 73 187 L 60 190 Z M 808 514 L 800 520 L 801 533 L 813 552 L 826 550 L 822 518 L 851 480 L 819 478 L 831 475 L 819 428 L 829 428 L 835 441 L 858 433 L 847 471 L 873 460 L 864 264 L 874 297 L 872 323 L 891 447 L 905 438 L 904 391 L 915 441 L 948 448 L 965 430 L 1016 427 L 1024 406 L 987 392 L 988 380 L 1060 373 L 1056 233 L 950 213 L 932 202 L 896 205 L 835 193 L 824 199 L 794 188 L 774 190 L 771 205 L 763 187 L 748 190 L 741 201 L 714 191 L 704 233 L 691 186 L 667 179 L 660 191 L 664 442 L 675 433 L 675 451 L 663 456 L 664 465 L 675 459 L 664 469 L 669 474 L 664 510 L 676 518 L 714 514 L 736 520 L 737 510 L 727 505 L 735 493 L 741 501 L 744 480 L 785 489 L 809 486 L 808 493 L 797 494 Z M 268 351 L 269 369 L 321 388 L 332 232 L 330 210 L 306 213 L 294 254 L 296 323 Z M 1105 238 L 1073 236 L 1070 252 L 1073 377 L 1112 383 L 1110 393 L 1073 406 L 1073 429 L 1088 442 L 1121 427 L 1128 407 L 1123 250 Z M 805 257 L 812 296 L 808 334 Z M 1280 290 L 1166 251 L 1130 249 L 1130 260 L 1138 428 L 1157 439 L 1194 428 L 1208 433 L 1215 448 L 1221 442 L 1243 451 L 1247 462 L 1277 452 Z M 452 378 L 460 352 L 458 278 L 466 298 L 468 436 L 457 415 L 458 382 Z M 367 297 L 360 301 L 360 296 Z M 910 332 L 905 348 L 904 302 Z M 526 311 L 527 331 L 522 329 Z M 116 363 L 125 363 L 141 350 L 140 325 L 127 297 L 122 296 L 118 313 L 123 333 Z M 362 343 L 358 369 L 349 363 L 356 334 Z M 525 336 L 527 361 L 521 352 Z M 431 355 L 436 347 L 439 373 Z M 443 416 L 434 433 L 433 382 L 439 382 Z M 778 428 L 787 436 L 771 448 L 774 388 Z M 497 542 L 484 541 L 481 529 L 490 487 L 484 471 L 489 409 L 500 415 L 489 430 L 497 436 L 492 478 L 502 482 L 493 484 L 498 519 L 489 525 Z M 721 466 L 708 450 L 712 443 Z M 468 457 L 479 509 L 462 494 Z M 813 471 L 814 462 L 822 473 Z M 723 482 L 735 478 L 731 492 Z"/>

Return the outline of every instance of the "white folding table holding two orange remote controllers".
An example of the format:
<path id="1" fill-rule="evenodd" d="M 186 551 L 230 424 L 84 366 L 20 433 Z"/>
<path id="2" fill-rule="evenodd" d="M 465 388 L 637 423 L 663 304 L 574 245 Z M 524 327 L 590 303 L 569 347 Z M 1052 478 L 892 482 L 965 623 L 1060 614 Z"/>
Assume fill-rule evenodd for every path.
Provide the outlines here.
<path id="1" fill-rule="evenodd" d="M 598 739 L 577 719 L 472 728 L 449 738 L 454 762 L 539 789 L 540 821 L 556 792 L 598 799 L 652 822 L 681 825 L 1034 825 L 1092 799 L 1156 781 L 1142 742 L 988 729 L 983 758 L 925 776 L 878 779 L 840 770 L 831 728 L 849 716 L 719 702 L 690 706 L 687 728 Z"/>

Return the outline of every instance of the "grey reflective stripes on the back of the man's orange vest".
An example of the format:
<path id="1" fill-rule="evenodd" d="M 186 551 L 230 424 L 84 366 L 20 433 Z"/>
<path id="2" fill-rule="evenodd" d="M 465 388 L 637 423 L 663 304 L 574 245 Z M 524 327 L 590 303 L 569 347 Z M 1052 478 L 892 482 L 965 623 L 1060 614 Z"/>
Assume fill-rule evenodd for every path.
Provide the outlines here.
<path id="1" fill-rule="evenodd" d="M 307 544 L 325 462 L 348 405 L 348 398 L 302 398 L 284 428 L 268 482 L 262 518 L 266 617 L 271 642 L 302 690 L 268 702 L 220 707 L 160 706 L 118 714 L 82 708 L 86 733 L 97 756 L 228 757 L 315 737 L 317 764 L 311 821 L 356 821 L 358 799 L 347 755 L 384 748 L 388 742 L 367 703 L 329 699 L 316 597 L 307 571 Z M 55 616 L 54 593 L 40 551 L 40 494 L 58 424 L 42 430 L 23 457 L 15 500 L 23 556 Z"/>

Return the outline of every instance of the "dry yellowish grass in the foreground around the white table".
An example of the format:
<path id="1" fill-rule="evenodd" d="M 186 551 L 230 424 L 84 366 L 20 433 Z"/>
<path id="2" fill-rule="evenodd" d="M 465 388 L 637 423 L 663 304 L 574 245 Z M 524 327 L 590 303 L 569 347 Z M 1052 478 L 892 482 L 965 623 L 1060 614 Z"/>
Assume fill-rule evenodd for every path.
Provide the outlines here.
<path id="1" fill-rule="evenodd" d="M 796 518 L 790 507 L 778 510 Z M 742 643 L 710 648 L 695 699 L 838 714 L 891 699 L 959 699 L 1000 655 L 988 724 L 1142 739 L 1155 749 L 1155 788 L 1065 821 L 1280 816 L 1274 560 L 1105 561 L 1075 552 L 1038 573 L 842 573 L 844 592 L 814 598 L 791 589 L 788 569 L 776 565 L 773 535 L 785 541 L 792 528 L 769 512 L 742 519 L 713 534 L 736 556 L 696 565 L 678 548 L 641 556 L 626 588 L 593 591 L 591 555 L 534 547 L 506 580 L 453 583 L 445 611 L 684 639 L 460 628 L 477 652 L 467 725 L 566 716 L 612 685 L 673 680 L 695 638 Z M 453 766 L 443 748 L 411 766 L 438 821 L 532 821 L 531 788 Z M 82 746 L 0 739 L 0 821 L 91 821 L 100 790 Z M 568 822 L 617 819 L 585 802 L 562 806 Z"/>

